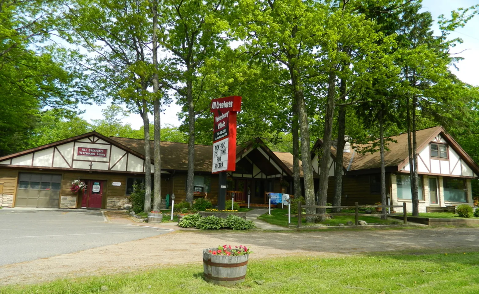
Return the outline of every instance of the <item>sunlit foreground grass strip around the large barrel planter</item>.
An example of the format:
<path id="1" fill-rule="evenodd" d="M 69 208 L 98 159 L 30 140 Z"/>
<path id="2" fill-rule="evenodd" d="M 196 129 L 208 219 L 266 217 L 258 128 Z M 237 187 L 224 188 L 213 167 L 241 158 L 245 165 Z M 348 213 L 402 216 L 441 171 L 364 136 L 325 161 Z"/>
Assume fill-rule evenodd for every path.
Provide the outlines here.
<path id="1" fill-rule="evenodd" d="M 479 253 L 303 256 L 269 260 L 255 260 L 253 255 L 246 281 L 233 288 L 206 283 L 203 265 L 198 263 L 140 273 L 0 287 L 0 293 L 472 294 L 479 289 L 478 264 Z"/>

